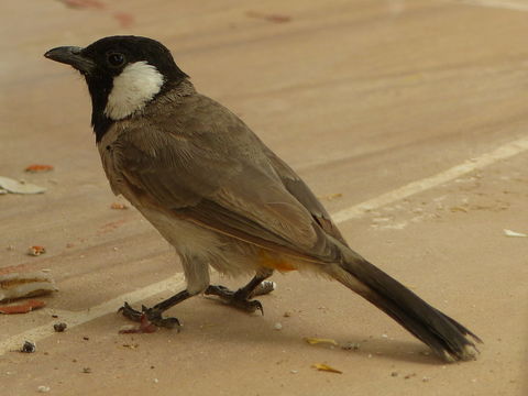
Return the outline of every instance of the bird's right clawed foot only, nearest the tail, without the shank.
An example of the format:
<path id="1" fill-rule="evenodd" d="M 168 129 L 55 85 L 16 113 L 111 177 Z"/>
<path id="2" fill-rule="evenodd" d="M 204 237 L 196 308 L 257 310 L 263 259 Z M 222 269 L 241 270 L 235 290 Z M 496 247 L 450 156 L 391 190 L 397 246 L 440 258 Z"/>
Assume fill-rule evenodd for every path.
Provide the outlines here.
<path id="1" fill-rule="evenodd" d="M 258 300 L 250 300 L 250 297 L 253 296 L 261 296 L 264 294 L 268 294 L 275 289 L 275 284 L 273 282 L 263 282 L 258 285 L 258 287 L 248 295 L 248 292 L 244 288 L 241 288 L 237 292 L 232 292 L 224 286 L 220 285 L 211 285 L 209 286 L 205 294 L 206 296 L 218 296 L 220 297 L 226 304 L 241 309 L 245 312 L 255 312 L 260 310 L 262 315 L 264 315 L 264 308 L 262 307 L 261 301 Z"/>

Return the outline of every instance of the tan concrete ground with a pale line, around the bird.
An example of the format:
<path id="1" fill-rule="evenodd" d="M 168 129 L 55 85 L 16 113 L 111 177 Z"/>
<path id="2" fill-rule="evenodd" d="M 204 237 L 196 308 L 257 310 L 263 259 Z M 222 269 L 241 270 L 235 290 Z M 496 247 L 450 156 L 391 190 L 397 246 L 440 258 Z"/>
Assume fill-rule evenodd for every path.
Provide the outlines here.
<path id="1" fill-rule="evenodd" d="M 2 0 L 0 175 L 47 191 L 0 196 L 0 266 L 48 268 L 61 290 L 44 309 L 0 317 L 0 394 L 526 395 L 528 239 L 503 229 L 528 232 L 527 11 L 501 0 Z M 299 172 L 352 246 L 484 340 L 479 360 L 443 364 L 348 289 L 298 274 L 274 276 L 264 317 L 197 297 L 169 311 L 180 333 L 118 334 L 120 304 L 168 297 L 180 268 L 134 209 L 110 209 L 120 199 L 85 84 L 42 56 L 113 34 L 166 44 L 200 91 Z M 55 170 L 25 174 L 33 163 Z M 47 253 L 26 255 L 35 244 Z M 56 321 L 69 328 L 54 333 Z M 23 340 L 36 353 L 13 352 Z"/>

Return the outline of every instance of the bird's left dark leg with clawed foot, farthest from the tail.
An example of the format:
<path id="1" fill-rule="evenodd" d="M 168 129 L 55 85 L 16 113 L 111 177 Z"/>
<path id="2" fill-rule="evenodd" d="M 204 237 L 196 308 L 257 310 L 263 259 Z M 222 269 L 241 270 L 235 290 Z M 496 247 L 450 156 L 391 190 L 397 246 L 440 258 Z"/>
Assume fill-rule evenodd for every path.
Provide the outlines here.
<path id="1" fill-rule="evenodd" d="M 179 320 L 176 318 L 163 318 L 162 314 L 170 307 L 174 307 L 176 304 L 179 304 L 186 300 L 194 295 L 187 290 L 179 292 L 178 294 L 174 295 L 173 297 L 163 300 L 162 302 L 156 304 L 152 308 L 146 308 L 142 306 L 141 311 L 135 310 L 132 308 L 129 302 L 124 302 L 124 305 L 119 308 L 119 311 L 123 314 L 124 317 L 134 320 L 141 321 L 142 318 L 145 318 L 157 327 L 165 327 L 165 328 L 179 328 Z"/>

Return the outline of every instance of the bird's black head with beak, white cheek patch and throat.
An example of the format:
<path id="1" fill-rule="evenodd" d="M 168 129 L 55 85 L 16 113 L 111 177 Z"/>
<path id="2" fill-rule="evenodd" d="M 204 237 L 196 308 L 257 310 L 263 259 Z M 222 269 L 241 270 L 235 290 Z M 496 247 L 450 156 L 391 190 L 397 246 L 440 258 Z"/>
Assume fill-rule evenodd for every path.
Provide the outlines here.
<path id="1" fill-rule="evenodd" d="M 142 110 L 188 77 L 162 43 L 140 36 L 105 37 L 85 48 L 53 48 L 44 56 L 68 64 L 85 76 L 98 141 L 113 121 Z"/>

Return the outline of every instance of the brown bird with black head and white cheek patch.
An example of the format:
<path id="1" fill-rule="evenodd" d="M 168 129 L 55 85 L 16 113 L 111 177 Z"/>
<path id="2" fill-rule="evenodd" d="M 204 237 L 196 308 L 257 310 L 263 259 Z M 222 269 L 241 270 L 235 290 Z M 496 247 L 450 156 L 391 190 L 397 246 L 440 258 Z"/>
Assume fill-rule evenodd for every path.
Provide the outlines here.
<path id="1" fill-rule="evenodd" d="M 59 46 L 48 59 L 85 78 L 102 167 L 179 255 L 186 288 L 122 314 L 177 328 L 168 308 L 200 294 L 248 312 L 274 271 L 334 279 L 387 314 L 447 362 L 475 360 L 482 340 L 352 250 L 302 179 L 233 112 L 199 94 L 158 41 L 108 36 Z M 211 285 L 209 268 L 249 275 L 237 290 Z"/>

